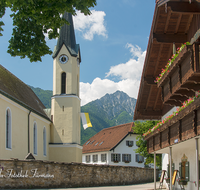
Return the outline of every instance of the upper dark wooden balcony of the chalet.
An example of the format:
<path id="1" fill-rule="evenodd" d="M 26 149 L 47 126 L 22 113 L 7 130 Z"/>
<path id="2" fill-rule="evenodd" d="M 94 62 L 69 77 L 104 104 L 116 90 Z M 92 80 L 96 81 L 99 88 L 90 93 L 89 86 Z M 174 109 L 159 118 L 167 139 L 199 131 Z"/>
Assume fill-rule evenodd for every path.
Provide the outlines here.
<path id="1" fill-rule="evenodd" d="M 163 103 L 180 106 L 200 90 L 199 50 L 199 42 L 185 46 L 158 82 L 158 87 L 162 88 Z"/>

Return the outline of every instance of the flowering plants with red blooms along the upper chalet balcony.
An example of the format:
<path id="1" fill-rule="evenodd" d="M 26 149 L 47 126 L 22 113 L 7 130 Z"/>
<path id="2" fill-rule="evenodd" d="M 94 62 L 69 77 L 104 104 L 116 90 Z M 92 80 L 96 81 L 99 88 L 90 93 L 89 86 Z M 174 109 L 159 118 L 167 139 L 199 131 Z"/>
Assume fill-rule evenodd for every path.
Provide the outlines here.
<path id="1" fill-rule="evenodd" d="M 181 45 L 180 48 L 177 48 L 177 51 L 175 54 L 172 55 L 172 57 L 168 60 L 167 62 L 167 65 L 165 66 L 164 69 L 162 69 L 161 73 L 159 74 L 159 76 L 156 78 L 156 80 L 154 81 L 155 83 L 158 83 L 161 78 L 163 77 L 163 75 L 167 72 L 169 72 L 169 68 L 170 66 L 172 65 L 172 63 L 174 62 L 174 60 L 178 57 L 179 53 L 183 50 L 183 48 L 186 46 L 186 45 L 190 45 L 189 42 L 186 42 L 184 44 Z"/>

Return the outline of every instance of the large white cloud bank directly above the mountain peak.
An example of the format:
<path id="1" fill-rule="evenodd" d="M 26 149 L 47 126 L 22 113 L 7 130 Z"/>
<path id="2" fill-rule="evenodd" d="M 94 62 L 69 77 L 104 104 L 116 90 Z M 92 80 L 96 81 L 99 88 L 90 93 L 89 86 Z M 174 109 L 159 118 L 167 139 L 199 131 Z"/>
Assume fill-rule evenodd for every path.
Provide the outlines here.
<path id="1" fill-rule="evenodd" d="M 118 76 L 121 80 L 114 82 L 110 79 L 95 78 L 91 84 L 81 82 L 81 105 L 117 90 L 127 93 L 130 97 L 137 98 L 146 51 L 142 52 L 140 47 L 132 44 L 127 44 L 126 47 L 130 49 L 132 58 L 126 63 L 112 66 L 106 75 L 106 77 Z"/>

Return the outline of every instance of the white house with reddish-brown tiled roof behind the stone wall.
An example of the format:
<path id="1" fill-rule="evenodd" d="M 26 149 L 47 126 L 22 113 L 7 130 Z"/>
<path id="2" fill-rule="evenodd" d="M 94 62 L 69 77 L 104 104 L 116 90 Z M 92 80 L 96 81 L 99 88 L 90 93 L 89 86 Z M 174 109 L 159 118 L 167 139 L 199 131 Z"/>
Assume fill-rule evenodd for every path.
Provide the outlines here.
<path id="1" fill-rule="evenodd" d="M 134 123 L 103 129 L 83 145 L 82 162 L 144 167 L 144 158 L 135 153 Z"/>

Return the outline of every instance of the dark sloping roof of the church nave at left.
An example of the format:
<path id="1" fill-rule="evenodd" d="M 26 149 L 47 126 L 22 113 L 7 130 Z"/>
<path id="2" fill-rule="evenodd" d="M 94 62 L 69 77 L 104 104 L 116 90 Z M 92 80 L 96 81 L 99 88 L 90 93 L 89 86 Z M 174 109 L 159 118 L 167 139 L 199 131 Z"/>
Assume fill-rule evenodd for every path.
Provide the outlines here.
<path id="1" fill-rule="evenodd" d="M 45 106 L 31 88 L 2 65 L 0 65 L 0 94 L 49 120 L 43 110 Z"/>

